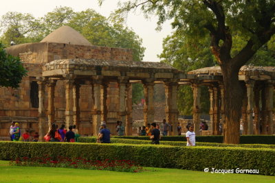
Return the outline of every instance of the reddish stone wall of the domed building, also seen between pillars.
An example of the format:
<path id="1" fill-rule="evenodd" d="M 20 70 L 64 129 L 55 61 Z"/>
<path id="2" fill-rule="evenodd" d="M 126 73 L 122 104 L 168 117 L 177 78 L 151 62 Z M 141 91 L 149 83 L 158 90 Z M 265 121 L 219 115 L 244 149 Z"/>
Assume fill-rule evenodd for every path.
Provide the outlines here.
<path id="1" fill-rule="evenodd" d="M 70 45 L 52 42 L 27 43 L 14 45 L 6 49 L 12 56 L 19 56 L 28 70 L 28 76 L 17 89 L 0 87 L 0 136 L 8 135 L 11 121 L 18 121 L 22 132 L 25 130 L 39 131 L 38 108 L 33 108 L 31 103 L 31 84 L 36 77 L 41 77 L 42 66 L 47 62 L 65 58 L 96 58 L 102 60 L 133 60 L 131 49 L 111 47 L 96 47 L 85 45 Z M 92 88 L 90 84 L 80 87 L 80 134 L 91 135 L 91 101 Z M 118 84 L 110 83 L 107 90 L 107 110 L 109 111 L 107 125 L 115 134 L 115 121 L 118 116 Z M 45 93 L 45 109 L 47 110 L 47 87 Z M 54 108 L 56 123 L 60 126 L 65 119 L 65 84 L 62 80 L 56 82 L 54 92 Z"/>

